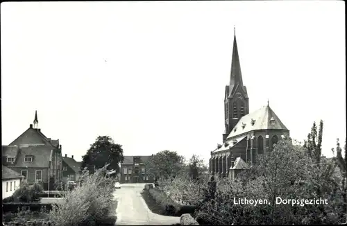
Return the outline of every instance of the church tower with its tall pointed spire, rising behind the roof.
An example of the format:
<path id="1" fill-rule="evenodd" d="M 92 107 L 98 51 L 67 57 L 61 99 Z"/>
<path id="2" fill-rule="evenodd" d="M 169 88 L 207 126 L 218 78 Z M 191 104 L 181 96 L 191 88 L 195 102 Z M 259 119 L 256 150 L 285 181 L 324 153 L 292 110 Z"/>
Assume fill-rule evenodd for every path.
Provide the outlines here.
<path id="1" fill-rule="evenodd" d="M 226 86 L 226 92 L 224 95 L 224 124 L 226 129 L 223 133 L 223 141 L 226 140 L 228 134 L 235 127 L 239 119 L 249 113 L 247 89 L 242 82 L 235 27 L 234 44 L 232 46 L 230 83 Z"/>

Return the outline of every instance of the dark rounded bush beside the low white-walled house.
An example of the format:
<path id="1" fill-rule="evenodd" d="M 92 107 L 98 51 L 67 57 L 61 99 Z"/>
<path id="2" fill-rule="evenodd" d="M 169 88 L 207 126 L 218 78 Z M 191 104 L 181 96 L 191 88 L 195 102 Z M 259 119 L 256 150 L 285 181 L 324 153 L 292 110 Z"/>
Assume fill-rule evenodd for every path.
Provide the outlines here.
<path id="1" fill-rule="evenodd" d="M 26 182 L 21 182 L 19 189 L 12 196 L 15 202 L 39 202 L 43 192 L 42 186 L 38 183 L 29 185 Z"/>

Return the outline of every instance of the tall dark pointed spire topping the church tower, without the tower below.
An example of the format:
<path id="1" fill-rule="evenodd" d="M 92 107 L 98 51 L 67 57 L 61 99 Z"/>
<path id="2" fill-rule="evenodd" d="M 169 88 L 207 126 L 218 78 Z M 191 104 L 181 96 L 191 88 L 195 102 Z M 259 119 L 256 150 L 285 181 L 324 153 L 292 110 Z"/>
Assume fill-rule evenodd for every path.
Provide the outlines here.
<path id="1" fill-rule="evenodd" d="M 234 44 L 232 46 L 232 61 L 231 61 L 231 71 L 230 71 L 230 87 L 229 93 L 232 93 L 232 90 L 237 85 L 241 86 L 244 89 L 244 83 L 242 82 L 242 73 L 241 66 L 239 63 L 239 52 L 237 51 L 237 42 L 236 42 L 236 29 L 234 26 Z"/>

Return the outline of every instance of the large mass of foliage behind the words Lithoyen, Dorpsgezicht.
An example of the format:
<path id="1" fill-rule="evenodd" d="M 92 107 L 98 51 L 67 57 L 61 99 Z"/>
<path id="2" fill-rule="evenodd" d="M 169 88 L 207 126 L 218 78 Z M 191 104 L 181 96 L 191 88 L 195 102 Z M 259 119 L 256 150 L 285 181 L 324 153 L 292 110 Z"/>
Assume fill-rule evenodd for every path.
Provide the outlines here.
<path id="1" fill-rule="evenodd" d="M 198 206 L 199 223 L 231 224 L 331 224 L 346 218 L 339 191 L 339 179 L 334 177 L 332 161 L 306 155 L 307 150 L 289 140 L 280 140 L 273 152 L 262 155 L 257 164 L 232 181 L 217 181 L 215 197 L 206 197 Z M 314 152 L 313 152 L 314 153 Z M 327 200 L 328 205 L 290 205 L 282 200 Z M 237 204 L 235 200 L 266 200 L 266 205 Z M 301 201 L 300 201 L 301 202 Z"/>

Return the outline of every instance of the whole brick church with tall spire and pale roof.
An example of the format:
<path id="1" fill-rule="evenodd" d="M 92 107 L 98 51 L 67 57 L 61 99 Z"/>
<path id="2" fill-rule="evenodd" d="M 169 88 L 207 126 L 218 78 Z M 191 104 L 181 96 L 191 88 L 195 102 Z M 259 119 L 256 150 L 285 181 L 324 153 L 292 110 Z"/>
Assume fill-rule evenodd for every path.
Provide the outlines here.
<path id="1" fill-rule="evenodd" d="M 251 113 L 248 103 L 234 33 L 230 82 L 224 93 L 223 144 L 218 144 L 211 151 L 209 164 L 212 175 L 235 178 L 259 155 L 271 152 L 279 139 L 289 137 L 289 130 L 273 112 L 269 101 Z"/>

